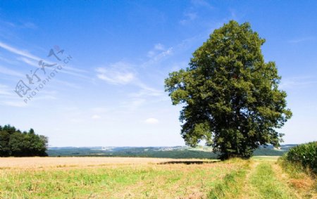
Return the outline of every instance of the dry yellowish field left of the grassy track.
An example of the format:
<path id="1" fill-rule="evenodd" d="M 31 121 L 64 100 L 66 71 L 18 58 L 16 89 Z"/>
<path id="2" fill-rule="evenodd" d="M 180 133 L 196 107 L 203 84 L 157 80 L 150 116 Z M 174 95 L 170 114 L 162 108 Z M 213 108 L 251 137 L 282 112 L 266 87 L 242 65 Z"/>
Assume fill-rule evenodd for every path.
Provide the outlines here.
<path id="1" fill-rule="evenodd" d="M 240 169 L 159 158 L 0 158 L 0 165 L 0 198 L 206 198 Z"/>

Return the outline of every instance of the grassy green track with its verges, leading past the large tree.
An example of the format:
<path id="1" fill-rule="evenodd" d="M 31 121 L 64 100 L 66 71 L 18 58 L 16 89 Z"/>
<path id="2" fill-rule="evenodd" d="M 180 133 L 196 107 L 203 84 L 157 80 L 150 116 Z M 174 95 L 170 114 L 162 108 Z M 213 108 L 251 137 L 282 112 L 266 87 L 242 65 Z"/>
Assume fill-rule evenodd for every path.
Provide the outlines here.
<path id="1" fill-rule="evenodd" d="M 209 198 L 302 197 L 287 184 L 287 175 L 282 173 L 275 160 L 252 160 L 227 174 L 211 189 Z"/>

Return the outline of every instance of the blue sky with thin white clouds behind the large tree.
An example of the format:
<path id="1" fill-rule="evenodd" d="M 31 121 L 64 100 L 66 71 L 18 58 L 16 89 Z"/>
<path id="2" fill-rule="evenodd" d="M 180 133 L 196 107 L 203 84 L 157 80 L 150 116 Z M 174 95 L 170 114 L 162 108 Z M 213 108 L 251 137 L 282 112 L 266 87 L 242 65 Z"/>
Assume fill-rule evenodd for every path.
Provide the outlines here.
<path id="1" fill-rule="evenodd" d="M 181 107 L 171 105 L 164 79 L 186 68 L 214 29 L 237 20 L 266 39 L 264 58 L 282 76 L 293 112 L 280 129 L 285 143 L 317 140 L 316 8 L 316 1 L 0 1 L 1 125 L 32 127 L 50 146 L 184 145 Z M 58 48 L 72 57 L 67 64 L 48 57 Z M 44 68 L 55 76 L 25 103 L 15 86 L 28 85 L 37 69 L 46 78 L 39 60 L 63 68 Z"/>

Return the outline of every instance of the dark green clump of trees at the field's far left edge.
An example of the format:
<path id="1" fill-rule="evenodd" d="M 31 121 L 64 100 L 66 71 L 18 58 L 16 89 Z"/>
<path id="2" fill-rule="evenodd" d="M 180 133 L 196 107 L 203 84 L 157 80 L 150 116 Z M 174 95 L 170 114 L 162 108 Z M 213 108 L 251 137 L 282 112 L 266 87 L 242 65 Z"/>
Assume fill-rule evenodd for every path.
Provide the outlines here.
<path id="1" fill-rule="evenodd" d="M 0 157 L 47 156 L 47 137 L 20 131 L 10 125 L 0 126 Z"/>

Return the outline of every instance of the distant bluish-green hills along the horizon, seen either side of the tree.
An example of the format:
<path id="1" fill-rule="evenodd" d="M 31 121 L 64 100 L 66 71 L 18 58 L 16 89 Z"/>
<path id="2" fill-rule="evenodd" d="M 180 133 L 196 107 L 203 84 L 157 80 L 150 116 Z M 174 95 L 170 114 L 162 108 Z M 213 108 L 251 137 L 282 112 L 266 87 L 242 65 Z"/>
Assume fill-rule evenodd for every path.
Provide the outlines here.
<path id="1" fill-rule="evenodd" d="M 279 156 L 283 155 L 296 144 L 261 147 L 254 151 L 254 155 Z M 146 157 L 146 158 L 217 158 L 211 147 L 189 146 L 173 147 L 51 147 L 47 150 L 51 157 L 56 156 L 100 156 L 100 157 Z"/>

